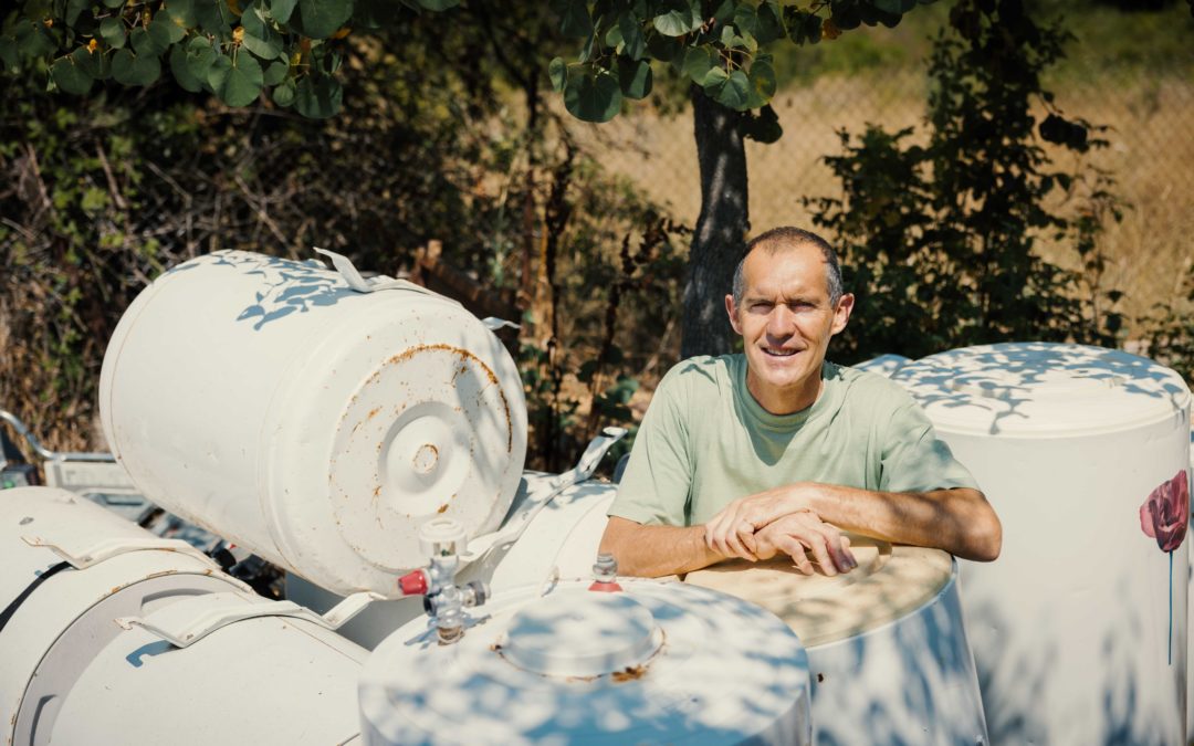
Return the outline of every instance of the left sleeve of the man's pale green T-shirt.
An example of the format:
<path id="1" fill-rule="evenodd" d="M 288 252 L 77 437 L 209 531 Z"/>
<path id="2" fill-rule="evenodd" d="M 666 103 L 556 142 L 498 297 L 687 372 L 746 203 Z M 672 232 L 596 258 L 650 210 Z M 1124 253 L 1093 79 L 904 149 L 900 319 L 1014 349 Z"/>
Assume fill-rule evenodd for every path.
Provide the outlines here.
<path id="1" fill-rule="evenodd" d="M 659 382 L 634 438 L 610 516 L 641 524 L 687 524 L 693 463 L 685 412 L 678 401 L 683 384 L 675 374 Z"/>

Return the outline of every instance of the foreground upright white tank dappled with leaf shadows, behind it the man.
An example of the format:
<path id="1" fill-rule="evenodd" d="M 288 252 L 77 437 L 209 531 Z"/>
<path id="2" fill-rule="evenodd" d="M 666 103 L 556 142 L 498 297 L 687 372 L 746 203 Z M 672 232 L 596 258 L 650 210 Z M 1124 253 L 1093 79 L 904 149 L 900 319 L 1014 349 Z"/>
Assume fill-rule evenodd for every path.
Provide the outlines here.
<path id="1" fill-rule="evenodd" d="M 774 615 L 681 584 L 586 587 L 499 594 L 450 646 L 400 629 L 365 664 L 364 742 L 810 742 L 808 664 Z"/>

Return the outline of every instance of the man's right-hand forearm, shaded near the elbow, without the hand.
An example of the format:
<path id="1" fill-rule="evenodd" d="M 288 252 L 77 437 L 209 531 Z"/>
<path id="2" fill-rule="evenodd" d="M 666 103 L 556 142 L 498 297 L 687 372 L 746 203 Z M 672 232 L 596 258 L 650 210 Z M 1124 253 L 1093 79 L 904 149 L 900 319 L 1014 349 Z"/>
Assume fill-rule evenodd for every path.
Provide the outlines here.
<path id="1" fill-rule="evenodd" d="M 999 556 L 1003 529 L 977 489 L 870 492 L 835 485 L 806 485 L 806 507 L 839 529 L 900 544 L 935 547 L 967 560 Z"/>

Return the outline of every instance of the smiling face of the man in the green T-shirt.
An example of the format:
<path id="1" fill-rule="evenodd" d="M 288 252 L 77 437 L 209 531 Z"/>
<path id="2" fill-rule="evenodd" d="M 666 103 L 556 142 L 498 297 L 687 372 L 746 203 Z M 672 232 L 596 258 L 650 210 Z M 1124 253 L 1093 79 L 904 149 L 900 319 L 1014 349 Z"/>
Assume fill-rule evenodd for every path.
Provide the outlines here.
<path id="1" fill-rule="evenodd" d="M 820 393 L 829 340 L 845 328 L 854 296 L 830 304 L 827 267 L 816 246 L 759 247 L 743 266 L 741 306 L 726 296 L 734 332 L 741 334 L 746 386 L 765 409 L 798 412 Z"/>

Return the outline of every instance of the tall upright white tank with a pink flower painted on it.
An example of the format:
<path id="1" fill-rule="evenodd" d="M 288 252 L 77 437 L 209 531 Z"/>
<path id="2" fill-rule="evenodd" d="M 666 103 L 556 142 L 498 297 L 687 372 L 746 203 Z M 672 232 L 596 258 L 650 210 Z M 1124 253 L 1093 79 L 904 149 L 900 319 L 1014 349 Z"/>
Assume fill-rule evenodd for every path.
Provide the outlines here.
<path id="1" fill-rule="evenodd" d="M 992 742 L 1184 742 L 1189 390 L 1125 352 L 1044 343 L 893 376 L 978 480 L 1003 554 L 965 563 Z"/>

